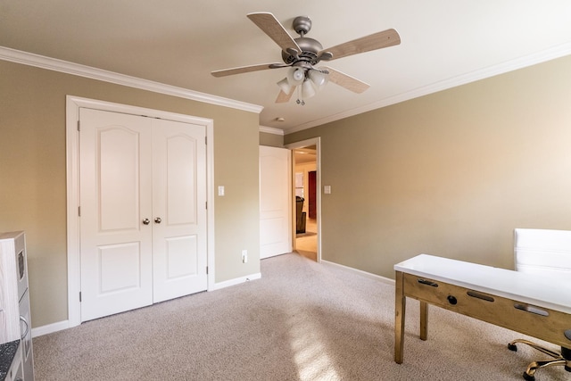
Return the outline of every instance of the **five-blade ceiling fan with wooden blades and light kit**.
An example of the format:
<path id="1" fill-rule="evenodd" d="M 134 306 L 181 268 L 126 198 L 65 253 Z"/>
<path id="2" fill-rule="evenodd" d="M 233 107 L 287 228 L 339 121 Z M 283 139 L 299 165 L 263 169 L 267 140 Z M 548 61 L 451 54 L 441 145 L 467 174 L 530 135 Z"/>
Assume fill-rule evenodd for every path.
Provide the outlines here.
<path id="1" fill-rule="evenodd" d="M 291 37 L 272 13 L 254 12 L 249 13 L 247 16 L 248 19 L 282 48 L 282 59 L 284 62 L 261 63 L 232 69 L 215 70 L 211 74 L 214 77 L 225 77 L 250 71 L 290 68 L 287 72 L 287 77 L 277 82 L 281 90 L 277 95 L 276 103 L 288 102 L 297 87 L 300 91 L 298 91 L 296 102 L 297 104 L 305 104 L 304 99 L 315 95 L 316 90 L 324 87 L 329 80 L 354 93 L 362 93 L 369 87 L 365 82 L 341 71 L 329 67 L 316 67 L 316 65 L 321 61 L 332 61 L 352 54 L 365 53 L 401 44 L 401 37 L 397 31 L 387 29 L 323 49 L 318 40 L 305 37 L 311 29 L 311 20 L 307 16 L 299 16 L 294 19 L 295 33 L 300 35 L 297 38 Z"/>

